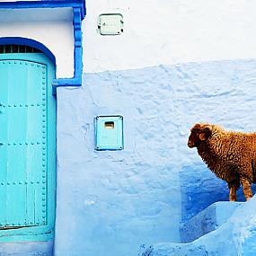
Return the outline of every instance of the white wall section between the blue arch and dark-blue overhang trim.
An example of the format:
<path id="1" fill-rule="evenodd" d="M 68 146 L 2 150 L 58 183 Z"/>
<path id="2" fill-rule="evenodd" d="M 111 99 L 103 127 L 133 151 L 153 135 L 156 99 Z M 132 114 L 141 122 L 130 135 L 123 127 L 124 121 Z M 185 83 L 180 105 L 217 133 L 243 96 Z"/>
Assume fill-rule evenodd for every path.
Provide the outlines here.
<path id="1" fill-rule="evenodd" d="M 56 57 L 57 78 L 69 78 L 74 75 L 72 19 L 71 8 L 2 10 L 0 37 L 39 41 Z"/>

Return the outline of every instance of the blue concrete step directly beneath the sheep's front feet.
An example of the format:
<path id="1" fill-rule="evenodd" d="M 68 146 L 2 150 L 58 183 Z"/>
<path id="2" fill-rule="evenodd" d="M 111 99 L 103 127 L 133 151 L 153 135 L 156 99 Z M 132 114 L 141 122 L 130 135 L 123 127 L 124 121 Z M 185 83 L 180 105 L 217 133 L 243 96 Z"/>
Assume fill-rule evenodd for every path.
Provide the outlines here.
<path id="1" fill-rule="evenodd" d="M 204 234 L 216 230 L 243 202 L 216 202 L 181 225 L 181 243 L 190 243 Z"/>

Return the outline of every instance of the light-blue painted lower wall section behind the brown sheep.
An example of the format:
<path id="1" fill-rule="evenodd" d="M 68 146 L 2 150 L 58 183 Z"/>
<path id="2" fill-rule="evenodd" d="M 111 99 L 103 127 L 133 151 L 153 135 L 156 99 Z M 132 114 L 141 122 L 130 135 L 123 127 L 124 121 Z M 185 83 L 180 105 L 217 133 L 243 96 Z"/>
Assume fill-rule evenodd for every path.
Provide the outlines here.
<path id="1" fill-rule="evenodd" d="M 181 222 L 228 200 L 187 139 L 198 121 L 256 129 L 255 70 L 254 59 L 152 66 L 57 88 L 56 255 L 130 256 L 178 243 Z M 94 151 L 93 119 L 119 114 L 125 150 Z"/>

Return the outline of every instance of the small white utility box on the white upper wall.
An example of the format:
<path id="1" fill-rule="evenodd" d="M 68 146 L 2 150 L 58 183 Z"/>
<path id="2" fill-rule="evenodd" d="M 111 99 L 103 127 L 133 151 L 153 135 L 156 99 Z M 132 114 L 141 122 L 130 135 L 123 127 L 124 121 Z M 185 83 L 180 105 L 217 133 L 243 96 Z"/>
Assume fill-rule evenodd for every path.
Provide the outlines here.
<path id="1" fill-rule="evenodd" d="M 119 35 L 123 32 L 123 15 L 119 13 L 101 14 L 98 20 L 101 35 Z"/>

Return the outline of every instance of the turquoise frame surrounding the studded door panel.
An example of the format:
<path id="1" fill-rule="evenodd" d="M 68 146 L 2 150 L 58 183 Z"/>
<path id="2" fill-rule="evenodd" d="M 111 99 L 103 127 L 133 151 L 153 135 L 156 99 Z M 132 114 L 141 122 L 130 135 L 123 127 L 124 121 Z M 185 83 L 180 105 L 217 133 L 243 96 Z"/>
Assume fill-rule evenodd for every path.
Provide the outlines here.
<path id="1" fill-rule="evenodd" d="M 13 42 L 13 44 L 17 44 Z M 30 45 L 28 45 L 30 46 Z M 0 60 L 25 60 L 47 66 L 47 225 L 21 227 L 0 230 L 0 243 L 20 241 L 49 241 L 54 238 L 56 216 L 56 182 L 57 182 L 57 101 L 52 93 L 52 81 L 55 79 L 55 64 L 44 53 L 8 53 L 0 54 Z M 50 106 L 49 106 L 50 105 Z M 49 111 L 49 109 L 51 109 Z M 49 172 L 51 170 L 51 172 Z"/>

